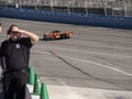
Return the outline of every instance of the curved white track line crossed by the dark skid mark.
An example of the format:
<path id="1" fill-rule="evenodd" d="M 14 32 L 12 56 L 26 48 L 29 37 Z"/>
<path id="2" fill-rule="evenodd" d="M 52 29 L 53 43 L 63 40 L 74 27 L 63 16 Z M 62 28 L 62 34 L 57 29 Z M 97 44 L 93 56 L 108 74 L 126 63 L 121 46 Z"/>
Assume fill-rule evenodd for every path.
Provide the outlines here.
<path id="1" fill-rule="evenodd" d="M 48 53 L 45 53 L 45 52 L 40 52 L 40 51 L 34 51 L 34 53 L 40 53 L 40 54 L 48 54 Z M 51 54 L 48 54 L 51 55 Z M 65 55 L 61 55 L 61 54 L 56 54 L 61 57 L 65 57 L 65 58 L 69 58 L 69 59 L 75 59 L 75 61 L 79 61 L 79 62 L 84 62 L 84 63 L 89 63 L 89 64 L 94 64 L 94 65 L 98 65 L 100 67 L 105 67 L 105 68 L 110 68 L 112 70 L 116 70 L 118 73 L 121 73 L 123 75 L 127 75 L 129 77 L 132 77 L 132 74 L 129 74 L 127 72 L 123 72 L 123 70 L 120 70 L 118 68 L 114 68 L 114 67 L 111 67 L 111 66 L 108 66 L 108 65 L 103 65 L 103 64 L 100 64 L 100 63 L 96 63 L 96 62 L 91 62 L 91 61 L 86 61 L 86 59 L 80 59 L 80 58 L 76 58 L 76 57 L 69 57 L 69 56 L 65 56 Z"/>

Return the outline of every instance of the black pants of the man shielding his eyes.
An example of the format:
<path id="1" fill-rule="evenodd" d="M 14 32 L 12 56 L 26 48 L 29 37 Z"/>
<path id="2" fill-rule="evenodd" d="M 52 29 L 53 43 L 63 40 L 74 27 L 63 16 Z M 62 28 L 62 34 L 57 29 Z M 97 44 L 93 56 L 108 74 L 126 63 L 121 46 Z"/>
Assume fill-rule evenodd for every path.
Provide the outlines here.
<path id="1" fill-rule="evenodd" d="M 4 99 L 25 99 L 28 70 L 6 72 L 3 74 Z"/>

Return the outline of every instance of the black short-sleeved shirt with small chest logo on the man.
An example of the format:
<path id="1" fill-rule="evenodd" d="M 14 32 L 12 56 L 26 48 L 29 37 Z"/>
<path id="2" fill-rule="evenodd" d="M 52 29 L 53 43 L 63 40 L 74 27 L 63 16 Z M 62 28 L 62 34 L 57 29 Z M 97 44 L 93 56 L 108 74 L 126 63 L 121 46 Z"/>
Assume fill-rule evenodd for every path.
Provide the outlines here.
<path id="1" fill-rule="evenodd" d="M 20 37 L 16 41 L 9 38 L 2 42 L 0 56 L 6 59 L 7 69 L 9 72 L 28 69 L 31 47 L 29 37 Z"/>

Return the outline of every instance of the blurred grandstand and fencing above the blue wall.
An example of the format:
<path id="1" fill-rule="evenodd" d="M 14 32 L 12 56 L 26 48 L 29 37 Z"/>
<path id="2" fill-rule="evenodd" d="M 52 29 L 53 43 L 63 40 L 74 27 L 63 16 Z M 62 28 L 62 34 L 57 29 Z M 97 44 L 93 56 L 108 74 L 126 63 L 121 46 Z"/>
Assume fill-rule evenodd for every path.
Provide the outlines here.
<path id="1" fill-rule="evenodd" d="M 0 7 L 132 18 L 132 0 L 0 0 Z"/>

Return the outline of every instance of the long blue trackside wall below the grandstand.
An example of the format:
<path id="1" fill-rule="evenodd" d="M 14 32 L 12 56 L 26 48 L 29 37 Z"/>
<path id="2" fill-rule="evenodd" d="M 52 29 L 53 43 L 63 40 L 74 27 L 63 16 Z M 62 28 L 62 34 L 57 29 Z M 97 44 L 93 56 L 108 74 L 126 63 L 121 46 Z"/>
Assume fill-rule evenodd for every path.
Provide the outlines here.
<path id="1" fill-rule="evenodd" d="M 118 28 L 132 30 L 132 18 L 102 14 L 52 12 L 15 8 L 0 8 L 1 18 L 13 18 L 91 26 Z"/>

